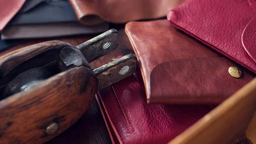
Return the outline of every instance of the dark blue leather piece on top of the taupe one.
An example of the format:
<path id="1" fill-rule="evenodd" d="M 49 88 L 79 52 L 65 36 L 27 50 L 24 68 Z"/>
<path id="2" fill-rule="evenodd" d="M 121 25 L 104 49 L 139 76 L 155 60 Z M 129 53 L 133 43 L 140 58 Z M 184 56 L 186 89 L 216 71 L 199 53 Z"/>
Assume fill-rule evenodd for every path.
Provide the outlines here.
<path id="1" fill-rule="evenodd" d="M 78 22 L 68 0 L 26 0 L 9 25 Z"/>

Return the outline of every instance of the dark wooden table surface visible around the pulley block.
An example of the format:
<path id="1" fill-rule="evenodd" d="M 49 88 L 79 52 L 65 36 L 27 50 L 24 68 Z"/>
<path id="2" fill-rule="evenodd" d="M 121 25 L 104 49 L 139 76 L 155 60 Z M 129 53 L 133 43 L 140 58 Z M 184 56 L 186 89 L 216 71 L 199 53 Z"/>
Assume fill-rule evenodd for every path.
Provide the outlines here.
<path id="1" fill-rule="evenodd" d="M 112 53 L 101 57 L 91 63 L 92 68 L 99 67 L 103 64 L 107 64 L 112 61 L 112 58 L 116 58 L 119 55 L 126 55 L 133 53 L 132 46 L 129 42 L 126 33 L 124 32 L 124 25 L 110 25 L 110 28 L 116 28 L 119 32 L 119 45 Z M 47 39 L 30 39 L 26 40 L 12 48 L 6 49 L 0 52 L 0 56 L 9 53 L 13 50 L 30 46 L 32 44 L 60 40 L 77 46 L 98 34 L 69 36 L 59 38 L 47 38 Z M 90 109 L 76 122 L 72 127 L 60 134 L 58 137 L 50 140 L 45 144 L 111 144 L 111 139 L 108 134 L 105 122 L 100 112 L 100 108 L 96 100 L 92 103 Z"/>

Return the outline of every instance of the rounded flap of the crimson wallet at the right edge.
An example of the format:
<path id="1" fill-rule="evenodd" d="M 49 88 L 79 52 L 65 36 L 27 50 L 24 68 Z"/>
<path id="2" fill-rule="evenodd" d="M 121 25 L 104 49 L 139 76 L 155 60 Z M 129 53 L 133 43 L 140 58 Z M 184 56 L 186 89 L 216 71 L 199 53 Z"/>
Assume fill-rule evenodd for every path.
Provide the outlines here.
<path id="1" fill-rule="evenodd" d="M 251 19 L 242 33 L 242 45 L 256 62 L 256 16 Z"/>

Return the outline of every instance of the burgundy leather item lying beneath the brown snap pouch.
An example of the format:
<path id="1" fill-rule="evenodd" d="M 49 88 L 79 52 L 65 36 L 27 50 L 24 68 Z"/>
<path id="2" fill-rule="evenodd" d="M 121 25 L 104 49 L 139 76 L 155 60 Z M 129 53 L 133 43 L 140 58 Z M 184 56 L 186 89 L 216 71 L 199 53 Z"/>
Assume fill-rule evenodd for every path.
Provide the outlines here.
<path id="1" fill-rule="evenodd" d="M 96 99 L 113 143 L 166 144 L 214 106 L 147 104 L 139 69 Z"/>

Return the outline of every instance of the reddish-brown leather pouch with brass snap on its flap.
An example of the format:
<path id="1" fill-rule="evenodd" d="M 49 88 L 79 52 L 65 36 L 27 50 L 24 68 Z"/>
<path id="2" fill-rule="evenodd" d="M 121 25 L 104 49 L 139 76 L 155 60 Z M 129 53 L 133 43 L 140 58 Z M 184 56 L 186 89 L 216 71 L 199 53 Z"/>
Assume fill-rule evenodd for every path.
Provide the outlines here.
<path id="1" fill-rule="evenodd" d="M 139 60 L 149 103 L 218 104 L 255 74 L 172 27 L 167 20 L 129 22 L 126 33 Z"/>

